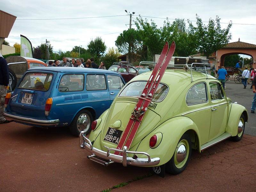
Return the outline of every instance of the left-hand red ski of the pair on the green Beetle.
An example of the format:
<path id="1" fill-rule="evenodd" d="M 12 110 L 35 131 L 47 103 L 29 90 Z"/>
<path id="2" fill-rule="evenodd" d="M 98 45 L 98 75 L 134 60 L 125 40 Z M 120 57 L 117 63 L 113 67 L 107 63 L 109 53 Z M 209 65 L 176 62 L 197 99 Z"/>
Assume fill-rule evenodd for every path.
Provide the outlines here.
<path id="1" fill-rule="evenodd" d="M 147 82 L 147 84 L 146 84 L 146 86 L 145 86 L 145 88 L 144 88 L 144 90 L 143 90 L 143 92 L 142 92 L 142 94 L 141 94 L 141 97 L 142 97 L 143 99 L 139 99 L 138 102 L 137 102 L 137 104 L 136 104 L 136 106 L 135 106 L 135 108 L 134 108 L 134 111 L 135 111 L 135 112 L 138 111 L 138 110 L 140 110 L 140 107 L 141 107 L 142 104 L 143 104 L 144 98 L 145 98 L 146 95 L 148 94 L 148 90 L 149 90 L 149 88 L 151 87 L 152 83 L 154 82 L 154 79 L 155 79 L 155 77 L 156 77 L 156 74 L 157 74 L 158 70 L 160 69 L 160 67 L 161 67 L 161 65 L 162 65 L 162 63 L 163 63 L 163 61 L 164 61 L 164 58 L 165 58 L 165 56 L 166 56 L 166 53 L 168 52 L 168 49 L 169 49 L 169 44 L 168 44 L 168 42 L 166 41 L 165 44 L 164 44 L 164 48 L 163 48 L 163 50 L 162 50 L 162 52 L 161 52 L 161 55 L 160 55 L 160 57 L 159 57 L 159 59 L 158 59 L 158 61 L 157 61 L 157 63 L 156 63 L 156 66 L 155 66 L 155 68 L 153 69 L 153 71 L 152 71 L 152 73 L 151 73 L 151 76 L 150 76 L 150 78 L 149 78 L 149 80 L 148 80 L 148 82 Z M 124 133 L 123 133 L 121 139 L 119 140 L 119 143 L 118 143 L 118 145 L 117 145 L 117 147 L 116 147 L 117 149 L 122 149 L 122 148 L 124 147 L 124 143 L 125 143 L 125 141 L 126 141 L 128 135 L 129 135 L 129 133 L 130 133 L 132 127 L 133 127 L 134 122 L 136 121 L 136 119 L 134 119 L 135 116 L 134 116 L 133 114 L 134 114 L 134 113 L 132 113 L 132 116 L 131 116 L 131 118 L 130 118 L 130 120 L 129 120 L 129 122 L 128 122 L 126 128 L 125 128 L 125 130 L 124 130 Z M 115 151 L 114 154 L 118 155 L 119 152 Z"/>

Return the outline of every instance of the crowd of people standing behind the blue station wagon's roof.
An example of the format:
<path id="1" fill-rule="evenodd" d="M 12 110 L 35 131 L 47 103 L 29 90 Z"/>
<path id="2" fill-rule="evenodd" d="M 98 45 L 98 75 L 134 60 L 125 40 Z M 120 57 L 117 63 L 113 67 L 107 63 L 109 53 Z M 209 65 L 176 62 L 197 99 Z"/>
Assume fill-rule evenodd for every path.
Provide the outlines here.
<path id="1" fill-rule="evenodd" d="M 84 58 L 78 58 L 78 59 L 72 59 L 71 63 L 66 58 L 63 57 L 62 61 L 54 60 L 49 61 L 48 67 L 81 67 L 81 68 L 95 68 L 95 69 L 106 69 L 104 61 L 100 62 L 100 66 L 98 66 L 96 63 L 94 63 L 94 58 L 87 59 L 87 61 L 84 63 Z"/>

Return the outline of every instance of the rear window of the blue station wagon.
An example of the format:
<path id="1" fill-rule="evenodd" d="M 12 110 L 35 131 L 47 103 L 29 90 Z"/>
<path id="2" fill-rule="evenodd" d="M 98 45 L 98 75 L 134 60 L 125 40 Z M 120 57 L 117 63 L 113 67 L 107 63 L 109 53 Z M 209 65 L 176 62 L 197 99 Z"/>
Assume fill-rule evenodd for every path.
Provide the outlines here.
<path id="1" fill-rule="evenodd" d="M 52 74 L 27 73 L 18 88 L 47 91 L 52 82 Z"/>

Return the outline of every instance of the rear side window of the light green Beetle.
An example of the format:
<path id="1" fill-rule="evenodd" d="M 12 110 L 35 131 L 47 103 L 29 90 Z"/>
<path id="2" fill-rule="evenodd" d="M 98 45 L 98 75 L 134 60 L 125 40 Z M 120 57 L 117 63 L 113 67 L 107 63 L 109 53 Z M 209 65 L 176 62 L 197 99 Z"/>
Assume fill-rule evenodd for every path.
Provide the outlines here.
<path id="1" fill-rule="evenodd" d="M 208 101 L 205 83 L 199 83 L 191 87 L 186 95 L 188 105 L 205 103 Z"/>

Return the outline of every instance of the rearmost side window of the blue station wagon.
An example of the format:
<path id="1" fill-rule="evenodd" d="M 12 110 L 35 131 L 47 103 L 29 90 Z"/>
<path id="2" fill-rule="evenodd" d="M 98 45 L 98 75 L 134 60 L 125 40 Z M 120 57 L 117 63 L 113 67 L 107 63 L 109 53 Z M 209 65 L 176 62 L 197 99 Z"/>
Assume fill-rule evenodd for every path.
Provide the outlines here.
<path id="1" fill-rule="evenodd" d="M 84 75 L 72 74 L 64 75 L 60 79 L 60 92 L 73 92 L 84 90 Z"/>

